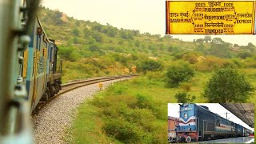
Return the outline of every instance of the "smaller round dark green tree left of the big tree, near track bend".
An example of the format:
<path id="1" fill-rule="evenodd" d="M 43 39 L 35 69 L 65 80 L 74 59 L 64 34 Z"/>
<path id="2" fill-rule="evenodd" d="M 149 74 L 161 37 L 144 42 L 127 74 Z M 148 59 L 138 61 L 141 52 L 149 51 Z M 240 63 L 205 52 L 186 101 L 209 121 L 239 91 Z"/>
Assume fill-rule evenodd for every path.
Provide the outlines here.
<path id="1" fill-rule="evenodd" d="M 188 65 L 170 66 L 167 70 L 166 76 L 168 78 L 167 83 L 172 87 L 176 87 L 179 83 L 186 82 L 190 80 L 190 78 L 194 77 L 194 70 Z"/>

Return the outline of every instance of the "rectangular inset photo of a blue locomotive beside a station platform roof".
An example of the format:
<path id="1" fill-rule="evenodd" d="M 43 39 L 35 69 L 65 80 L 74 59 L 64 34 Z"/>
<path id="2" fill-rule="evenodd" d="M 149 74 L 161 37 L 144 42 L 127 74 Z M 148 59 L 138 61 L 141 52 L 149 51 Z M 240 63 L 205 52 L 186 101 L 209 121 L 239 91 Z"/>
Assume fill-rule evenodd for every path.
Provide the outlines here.
<path id="1" fill-rule="evenodd" d="M 168 142 L 254 143 L 254 103 L 168 103 Z"/>

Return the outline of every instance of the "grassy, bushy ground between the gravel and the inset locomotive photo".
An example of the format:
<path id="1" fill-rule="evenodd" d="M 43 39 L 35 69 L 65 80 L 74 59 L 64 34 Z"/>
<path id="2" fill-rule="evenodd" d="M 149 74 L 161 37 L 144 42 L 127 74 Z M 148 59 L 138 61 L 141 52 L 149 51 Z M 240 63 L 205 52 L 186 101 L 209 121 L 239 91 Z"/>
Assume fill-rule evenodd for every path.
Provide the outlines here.
<path id="1" fill-rule="evenodd" d="M 254 86 L 256 70 L 240 70 Z M 166 85 L 162 72 L 118 82 L 95 95 L 78 108 L 69 131 L 74 143 L 166 143 L 167 103 L 177 102 L 174 95 L 187 92 L 193 102 L 208 102 L 202 91 L 211 73 L 196 72 L 178 87 Z M 189 88 L 188 88 L 189 87 Z M 251 97 L 247 102 L 256 102 Z M 152 132 L 154 131 L 154 132 Z M 129 137 L 131 135 L 132 137 Z"/>

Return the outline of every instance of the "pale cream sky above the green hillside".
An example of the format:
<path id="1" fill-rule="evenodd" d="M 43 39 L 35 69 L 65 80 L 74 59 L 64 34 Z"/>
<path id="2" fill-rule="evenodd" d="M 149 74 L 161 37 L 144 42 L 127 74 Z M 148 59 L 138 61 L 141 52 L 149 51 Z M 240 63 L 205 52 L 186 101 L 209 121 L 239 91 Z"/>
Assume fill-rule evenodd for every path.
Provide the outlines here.
<path id="1" fill-rule="evenodd" d="M 166 32 L 166 0 L 42 0 L 42 5 L 81 20 L 109 23 L 112 26 L 141 33 L 164 35 Z M 183 41 L 204 38 L 204 35 L 173 35 Z M 255 35 L 228 35 L 221 37 L 225 42 L 256 45 Z"/>

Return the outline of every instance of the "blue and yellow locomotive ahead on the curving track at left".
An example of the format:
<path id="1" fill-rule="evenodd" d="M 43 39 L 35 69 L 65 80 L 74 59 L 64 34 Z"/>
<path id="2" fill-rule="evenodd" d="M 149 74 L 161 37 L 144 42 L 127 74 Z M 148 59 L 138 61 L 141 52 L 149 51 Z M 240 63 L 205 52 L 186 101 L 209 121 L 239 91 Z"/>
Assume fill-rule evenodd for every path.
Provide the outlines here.
<path id="1" fill-rule="evenodd" d="M 22 78 L 26 80 L 32 112 L 37 110 L 40 100 L 47 101 L 61 90 L 62 61 L 57 67 L 58 46 L 54 40 L 47 38 L 38 18 L 30 38 L 29 48 L 23 54 Z"/>

